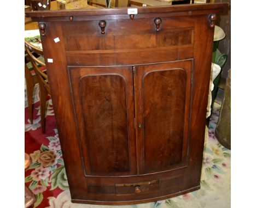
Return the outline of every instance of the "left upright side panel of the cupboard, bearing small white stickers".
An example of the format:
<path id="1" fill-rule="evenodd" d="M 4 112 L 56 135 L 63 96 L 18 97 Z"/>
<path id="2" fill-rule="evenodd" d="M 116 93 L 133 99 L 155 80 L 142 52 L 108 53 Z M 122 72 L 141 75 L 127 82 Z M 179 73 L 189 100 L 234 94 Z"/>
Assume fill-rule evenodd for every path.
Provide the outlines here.
<path id="1" fill-rule="evenodd" d="M 82 156 L 80 155 L 79 140 L 69 88 L 69 77 L 66 64 L 66 53 L 61 23 L 47 22 L 46 35 L 41 36 L 44 47 L 44 58 L 53 100 L 54 114 L 59 133 L 68 185 L 72 198 L 86 195 L 86 180 L 83 177 Z M 60 41 L 54 43 L 53 39 Z M 53 59 L 53 63 L 47 60 Z M 47 131 L 47 126 L 46 126 Z M 79 178 L 79 180 L 77 180 Z"/>

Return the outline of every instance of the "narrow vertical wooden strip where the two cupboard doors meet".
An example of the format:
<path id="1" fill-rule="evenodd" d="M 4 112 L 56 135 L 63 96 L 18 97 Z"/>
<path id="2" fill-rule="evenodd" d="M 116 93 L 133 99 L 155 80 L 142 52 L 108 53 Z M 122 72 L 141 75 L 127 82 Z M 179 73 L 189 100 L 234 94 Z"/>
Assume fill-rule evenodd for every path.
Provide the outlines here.
<path id="1" fill-rule="evenodd" d="M 134 126 L 135 126 L 135 144 L 136 144 L 136 169 L 139 175 L 139 146 L 138 146 L 138 127 L 137 127 L 137 82 L 136 82 L 136 66 L 132 66 L 133 76 L 133 100 L 134 100 Z"/>

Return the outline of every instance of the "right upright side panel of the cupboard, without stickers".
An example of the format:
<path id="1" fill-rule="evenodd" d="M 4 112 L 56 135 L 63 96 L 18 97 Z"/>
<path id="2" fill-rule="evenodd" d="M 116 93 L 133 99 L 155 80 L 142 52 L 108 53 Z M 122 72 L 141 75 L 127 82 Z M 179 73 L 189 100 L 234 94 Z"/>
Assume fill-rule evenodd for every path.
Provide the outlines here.
<path id="1" fill-rule="evenodd" d="M 214 27 L 210 28 L 208 15 L 195 17 L 194 76 L 191 102 L 191 130 L 189 186 L 199 186 L 205 141 L 206 108 L 211 75 Z"/>

